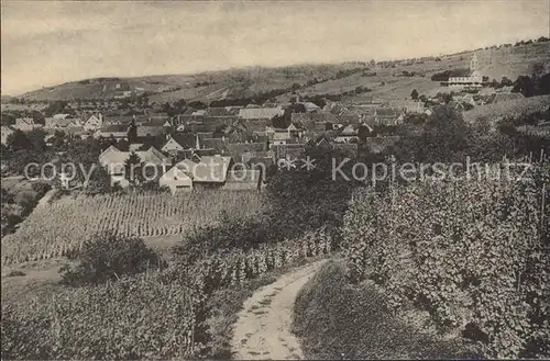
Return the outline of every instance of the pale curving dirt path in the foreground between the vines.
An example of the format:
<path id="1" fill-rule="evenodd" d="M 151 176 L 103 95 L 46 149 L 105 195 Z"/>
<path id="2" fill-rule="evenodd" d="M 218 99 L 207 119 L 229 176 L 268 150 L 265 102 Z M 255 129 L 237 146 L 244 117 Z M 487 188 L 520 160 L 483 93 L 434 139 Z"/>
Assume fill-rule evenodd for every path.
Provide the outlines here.
<path id="1" fill-rule="evenodd" d="M 284 274 L 244 302 L 233 328 L 233 359 L 304 358 L 298 340 L 290 332 L 294 302 L 298 291 L 323 262 L 321 260 Z"/>

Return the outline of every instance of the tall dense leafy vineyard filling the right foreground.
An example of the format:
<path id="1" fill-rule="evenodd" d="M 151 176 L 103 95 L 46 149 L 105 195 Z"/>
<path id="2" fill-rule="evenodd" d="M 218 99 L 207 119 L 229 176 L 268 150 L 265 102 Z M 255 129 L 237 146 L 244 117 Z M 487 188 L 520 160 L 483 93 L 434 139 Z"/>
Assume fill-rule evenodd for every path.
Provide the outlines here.
<path id="1" fill-rule="evenodd" d="M 391 308 L 414 303 L 468 330 L 486 357 L 550 357 L 550 167 L 536 168 L 522 181 L 359 191 L 342 229 L 350 278 L 375 281 Z"/>

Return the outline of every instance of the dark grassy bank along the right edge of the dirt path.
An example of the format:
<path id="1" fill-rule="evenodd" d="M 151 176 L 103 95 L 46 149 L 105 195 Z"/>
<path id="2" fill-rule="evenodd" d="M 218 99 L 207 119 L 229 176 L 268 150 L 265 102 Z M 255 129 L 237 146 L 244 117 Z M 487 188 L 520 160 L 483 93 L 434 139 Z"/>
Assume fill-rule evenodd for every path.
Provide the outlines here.
<path id="1" fill-rule="evenodd" d="M 293 328 L 308 359 L 476 358 L 460 339 L 429 336 L 387 313 L 384 295 L 349 284 L 338 261 L 298 293 Z"/>

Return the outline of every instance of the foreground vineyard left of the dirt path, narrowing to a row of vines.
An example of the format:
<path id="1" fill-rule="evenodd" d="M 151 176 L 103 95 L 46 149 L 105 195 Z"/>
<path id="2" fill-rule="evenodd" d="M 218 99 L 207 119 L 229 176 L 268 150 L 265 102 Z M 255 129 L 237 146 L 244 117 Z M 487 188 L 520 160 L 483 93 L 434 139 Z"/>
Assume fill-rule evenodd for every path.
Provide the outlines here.
<path id="1" fill-rule="evenodd" d="M 207 347 L 205 301 L 271 270 L 330 252 L 322 230 L 195 264 L 2 303 L 6 359 L 191 359 Z"/>

